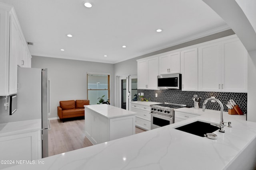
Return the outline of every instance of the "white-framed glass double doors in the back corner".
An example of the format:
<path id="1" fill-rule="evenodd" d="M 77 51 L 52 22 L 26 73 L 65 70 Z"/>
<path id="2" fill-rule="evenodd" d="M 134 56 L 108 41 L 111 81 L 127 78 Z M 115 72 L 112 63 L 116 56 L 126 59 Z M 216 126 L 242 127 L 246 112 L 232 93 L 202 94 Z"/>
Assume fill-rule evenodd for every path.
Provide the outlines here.
<path id="1" fill-rule="evenodd" d="M 130 102 L 137 101 L 137 75 L 119 76 L 119 107 L 130 110 Z"/>

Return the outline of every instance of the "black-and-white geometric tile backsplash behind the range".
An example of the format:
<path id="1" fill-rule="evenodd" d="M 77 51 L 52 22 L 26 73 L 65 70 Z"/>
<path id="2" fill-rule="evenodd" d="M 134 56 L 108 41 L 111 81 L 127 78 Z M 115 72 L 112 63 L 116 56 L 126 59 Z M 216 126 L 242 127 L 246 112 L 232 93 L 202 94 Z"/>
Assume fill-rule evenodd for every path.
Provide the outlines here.
<path id="1" fill-rule="evenodd" d="M 244 114 L 247 113 L 247 93 L 231 93 L 231 92 L 198 92 L 198 91 L 182 91 L 182 90 L 142 90 L 138 89 L 138 93 L 144 93 L 144 98 L 150 99 L 152 102 L 169 102 L 174 104 L 186 104 L 188 107 L 194 107 L 192 100 L 194 94 L 201 98 L 199 107 L 202 108 L 204 100 L 215 96 L 222 102 L 224 111 L 228 111 L 226 103 L 233 99 L 241 108 Z M 156 93 L 158 97 L 156 97 Z M 216 102 L 208 102 L 206 109 L 220 110 L 220 106 Z"/>

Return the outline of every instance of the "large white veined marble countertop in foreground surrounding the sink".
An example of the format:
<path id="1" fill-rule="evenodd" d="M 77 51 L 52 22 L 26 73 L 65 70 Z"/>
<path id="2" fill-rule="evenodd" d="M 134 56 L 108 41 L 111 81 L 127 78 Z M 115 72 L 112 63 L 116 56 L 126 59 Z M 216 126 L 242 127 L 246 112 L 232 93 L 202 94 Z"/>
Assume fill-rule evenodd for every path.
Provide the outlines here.
<path id="1" fill-rule="evenodd" d="M 190 109 L 197 117 L 171 125 L 40 159 L 44 164 L 10 169 L 93 169 L 93 170 L 250 170 L 256 167 L 256 123 L 244 115 L 228 115 L 225 133 L 208 139 L 175 129 L 197 120 L 219 123 L 220 111 Z M 183 110 L 184 111 L 184 110 Z"/>

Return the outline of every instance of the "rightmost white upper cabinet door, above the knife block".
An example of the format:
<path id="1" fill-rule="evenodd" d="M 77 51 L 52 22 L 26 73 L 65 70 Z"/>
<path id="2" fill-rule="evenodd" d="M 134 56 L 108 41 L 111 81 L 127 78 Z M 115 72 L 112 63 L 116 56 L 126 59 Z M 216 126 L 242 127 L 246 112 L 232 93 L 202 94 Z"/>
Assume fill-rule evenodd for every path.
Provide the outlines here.
<path id="1" fill-rule="evenodd" d="M 239 39 L 223 43 L 222 91 L 247 92 L 247 51 Z"/>

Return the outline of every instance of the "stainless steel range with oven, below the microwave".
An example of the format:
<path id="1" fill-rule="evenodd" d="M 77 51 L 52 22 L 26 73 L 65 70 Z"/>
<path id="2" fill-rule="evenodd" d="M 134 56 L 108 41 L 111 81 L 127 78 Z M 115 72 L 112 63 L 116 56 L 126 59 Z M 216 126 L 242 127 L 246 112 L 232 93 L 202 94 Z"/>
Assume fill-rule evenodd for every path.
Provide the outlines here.
<path id="1" fill-rule="evenodd" d="M 151 129 L 170 125 L 174 123 L 174 110 L 180 107 L 186 107 L 185 104 L 154 104 L 151 107 Z"/>

